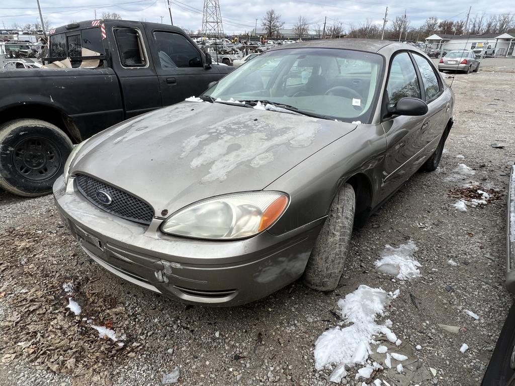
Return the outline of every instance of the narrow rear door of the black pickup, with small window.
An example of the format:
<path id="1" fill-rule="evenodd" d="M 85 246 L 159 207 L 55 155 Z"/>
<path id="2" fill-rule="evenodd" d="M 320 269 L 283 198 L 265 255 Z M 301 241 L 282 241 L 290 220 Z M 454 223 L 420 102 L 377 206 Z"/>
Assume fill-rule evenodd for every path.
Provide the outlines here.
<path id="1" fill-rule="evenodd" d="M 118 54 L 118 60 L 113 55 L 113 67 L 121 86 L 125 118 L 160 108 L 159 81 L 149 63 L 141 30 L 113 27 L 112 33 Z"/>

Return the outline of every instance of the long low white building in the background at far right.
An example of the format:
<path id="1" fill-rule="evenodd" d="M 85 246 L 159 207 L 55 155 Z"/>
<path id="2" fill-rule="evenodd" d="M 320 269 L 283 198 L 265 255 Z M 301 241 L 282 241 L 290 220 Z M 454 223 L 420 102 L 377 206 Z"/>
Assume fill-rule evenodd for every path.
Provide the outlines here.
<path id="1" fill-rule="evenodd" d="M 494 56 L 515 56 L 515 33 L 484 33 L 479 35 L 433 34 L 425 38 L 425 42 L 433 48 L 443 50 L 493 49 Z"/>

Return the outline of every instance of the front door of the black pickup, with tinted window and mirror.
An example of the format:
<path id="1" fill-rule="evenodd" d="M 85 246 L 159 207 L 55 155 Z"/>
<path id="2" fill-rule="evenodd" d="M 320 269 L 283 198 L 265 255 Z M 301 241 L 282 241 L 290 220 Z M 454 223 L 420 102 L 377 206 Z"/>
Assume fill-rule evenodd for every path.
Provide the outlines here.
<path id="1" fill-rule="evenodd" d="M 152 40 L 152 59 L 161 89 L 163 106 L 199 96 L 208 84 L 218 80 L 214 68 L 204 68 L 200 49 L 179 32 L 155 29 L 147 39 Z"/>

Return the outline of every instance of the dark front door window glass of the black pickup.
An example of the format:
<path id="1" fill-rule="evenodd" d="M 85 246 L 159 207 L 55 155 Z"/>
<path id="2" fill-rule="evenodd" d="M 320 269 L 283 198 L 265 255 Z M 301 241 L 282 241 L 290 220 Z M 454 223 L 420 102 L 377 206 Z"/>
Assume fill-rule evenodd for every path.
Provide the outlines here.
<path id="1" fill-rule="evenodd" d="M 202 67 L 199 50 L 181 34 L 156 31 L 153 36 L 162 69 Z"/>

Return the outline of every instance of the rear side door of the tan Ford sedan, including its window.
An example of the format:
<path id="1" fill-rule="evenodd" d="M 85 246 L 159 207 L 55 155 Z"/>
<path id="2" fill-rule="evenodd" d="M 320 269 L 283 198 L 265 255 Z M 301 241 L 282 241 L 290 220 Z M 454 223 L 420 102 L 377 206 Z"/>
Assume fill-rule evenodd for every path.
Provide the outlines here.
<path id="1" fill-rule="evenodd" d="M 442 78 L 433 65 L 415 52 L 411 52 L 411 56 L 415 60 L 416 69 L 422 80 L 422 99 L 427 103 L 427 125 L 420 130 L 421 146 L 425 147 L 420 155 L 425 157 L 432 154 L 438 146 L 440 136 L 447 126 L 447 113 L 451 104 L 442 96 Z"/>

